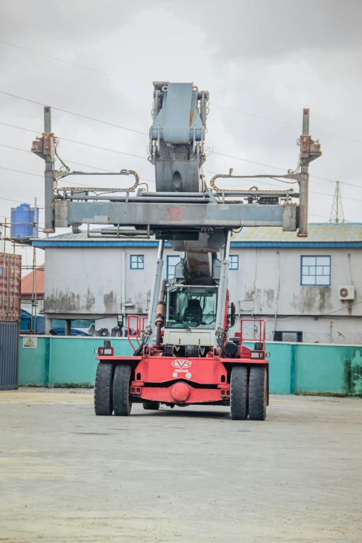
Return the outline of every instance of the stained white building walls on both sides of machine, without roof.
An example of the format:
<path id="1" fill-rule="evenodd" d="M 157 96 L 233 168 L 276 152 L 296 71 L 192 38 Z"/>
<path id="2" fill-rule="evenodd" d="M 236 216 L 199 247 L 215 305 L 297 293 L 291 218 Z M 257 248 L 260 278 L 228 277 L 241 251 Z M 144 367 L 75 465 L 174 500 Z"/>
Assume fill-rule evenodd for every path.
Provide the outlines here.
<path id="1" fill-rule="evenodd" d="M 157 248 L 61 247 L 45 250 L 46 317 L 97 319 L 121 313 L 123 252 L 126 313 L 145 315 Z M 144 255 L 143 270 L 130 269 L 130 255 Z M 165 249 L 163 277 L 168 255 L 178 253 Z M 230 255 L 239 257 L 238 269 L 229 273 L 230 299 L 240 316 L 267 319 L 268 339 L 276 329 L 303 331 L 303 341 L 310 343 L 362 343 L 361 249 L 232 247 Z M 331 256 L 331 286 L 300 284 L 301 255 Z M 339 300 L 338 287 L 350 284 L 355 300 Z"/>

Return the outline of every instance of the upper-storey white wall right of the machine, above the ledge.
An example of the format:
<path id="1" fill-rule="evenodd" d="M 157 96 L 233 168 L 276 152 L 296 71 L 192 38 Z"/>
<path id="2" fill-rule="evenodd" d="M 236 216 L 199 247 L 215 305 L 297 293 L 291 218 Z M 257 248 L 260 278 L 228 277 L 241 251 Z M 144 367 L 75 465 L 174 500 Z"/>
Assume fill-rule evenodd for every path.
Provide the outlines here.
<path id="1" fill-rule="evenodd" d="M 230 273 L 230 291 L 241 313 L 255 315 L 313 315 L 338 311 L 362 316 L 362 251 L 354 248 L 239 248 L 239 273 Z M 230 254 L 235 248 L 230 250 Z M 350 262 L 348 258 L 350 254 Z M 300 257 L 331 256 L 331 286 L 300 284 Z M 279 266 L 278 266 L 279 260 Z M 350 266 L 351 264 L 351 266 Z M 278 271 L 279 267 L 279 271 Z M 351 285 L 356 299 L 339 300 L 339 286 Z M 339 311 L 343 310 L 343 311 Z"/>

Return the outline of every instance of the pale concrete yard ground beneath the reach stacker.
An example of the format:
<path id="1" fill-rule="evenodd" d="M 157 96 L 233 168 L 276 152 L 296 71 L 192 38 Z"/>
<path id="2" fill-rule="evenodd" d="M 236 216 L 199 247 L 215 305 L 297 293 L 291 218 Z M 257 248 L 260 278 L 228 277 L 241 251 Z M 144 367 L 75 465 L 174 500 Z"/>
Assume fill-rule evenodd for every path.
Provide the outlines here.
<path id="1" fill-rule="evenodd" d="M 133 406 L 92 390 L 0 393 L 0 542 L 361 542 L 361 399 Z"/>

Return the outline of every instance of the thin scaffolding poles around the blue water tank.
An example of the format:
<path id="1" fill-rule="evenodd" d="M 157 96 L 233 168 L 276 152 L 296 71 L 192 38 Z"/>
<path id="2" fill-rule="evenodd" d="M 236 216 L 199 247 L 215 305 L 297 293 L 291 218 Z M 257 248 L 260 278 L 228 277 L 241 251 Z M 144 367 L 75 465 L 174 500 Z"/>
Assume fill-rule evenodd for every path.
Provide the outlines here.
<path id="1" fill-rule="evenodd" d="M 31 225 L 33 227 L 33 237 L 32 238 L 24 238 L 24 239 L 17 239 L 12 238 L 7 235 L 8 229 L 14 225 Z M 42 230 L 39 226 L 39 222 L 37 221 L 37 198 L 34 200 L 34 221 L 31 223 L 12 223 L 11 221 L 8 222 L 5 218 L 5 221 L 3 223 L 0 223 L 1 226 L 1 234 L 0 234 L 0 243 L 2 245 L 3 252 L 6 252 L 7 245 L 6 243 L 10 243 L 10 247 L 12 247 L 13 254 L 15 255 L 15 248 L 29 248 L 33 246 L 33 264 L 31 266 L 21 266 L 21 271 L 23 270 L 31 270 L 33 273 L 32 276 L 32 288 L 31 288 L 31 325 L 30 329 L 26 331 L 28 334 L 37 334 L 37 280 L 36 280 L 36 273 L 37 273 L 37 256 L 36 256 L 36 249 L 33 245 L 33 240 L 37 239 L 37 231 Z M 10 230 L 11 234 L 11 230 Z"/>

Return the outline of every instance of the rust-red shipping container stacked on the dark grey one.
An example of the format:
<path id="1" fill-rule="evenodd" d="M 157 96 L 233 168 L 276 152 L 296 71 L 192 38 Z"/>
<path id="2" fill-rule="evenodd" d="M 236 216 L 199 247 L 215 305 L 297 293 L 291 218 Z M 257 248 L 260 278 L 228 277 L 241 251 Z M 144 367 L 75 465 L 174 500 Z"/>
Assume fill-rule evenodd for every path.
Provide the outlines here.
<path id="1" fill-rule="evenodd" d="M 20 322 L 21 256 L 0 252 L 0 321 Z"/>

